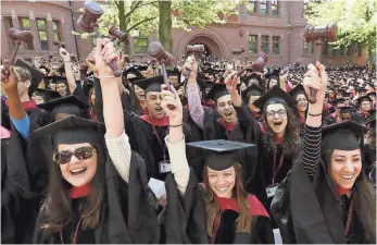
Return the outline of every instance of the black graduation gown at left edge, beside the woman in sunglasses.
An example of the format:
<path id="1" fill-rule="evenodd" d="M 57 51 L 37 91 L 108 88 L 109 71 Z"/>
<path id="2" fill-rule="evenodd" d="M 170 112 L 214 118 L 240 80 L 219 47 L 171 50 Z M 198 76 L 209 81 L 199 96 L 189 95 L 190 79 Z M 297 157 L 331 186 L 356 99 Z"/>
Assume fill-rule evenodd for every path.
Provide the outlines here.
<path id="1" fill-rule="evenodd" d="M 39 162 L 32 163 L 27 158 L 27 144 L 13 126 L 7 145 L 3 139 L 1 144 L 1 241 L 32 243 L 40 205 L 39 187 L 46 187 L 48 174 Z"/>

